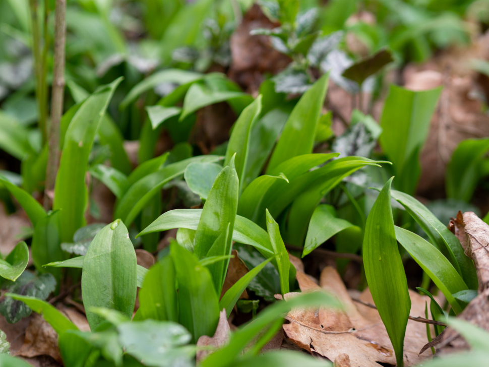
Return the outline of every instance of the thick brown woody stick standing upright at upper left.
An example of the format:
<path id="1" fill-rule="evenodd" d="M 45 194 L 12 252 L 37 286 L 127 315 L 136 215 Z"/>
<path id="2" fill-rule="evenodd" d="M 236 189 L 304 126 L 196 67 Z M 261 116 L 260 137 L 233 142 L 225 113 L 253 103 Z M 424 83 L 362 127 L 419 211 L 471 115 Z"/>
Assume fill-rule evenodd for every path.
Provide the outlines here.
<path id="1" fill-rule="evenodd" d="M 59 125 L 63 114 L 65 93 L 66 0 L 56 0 L 54 20 L 54 67 L 52 72 L 51 124 L 49 127 L 48 158 L 45 191 L 54 189 L 59 166 Z M 49 195 L 44 195 L 44 209 L 50 207 Z"/>

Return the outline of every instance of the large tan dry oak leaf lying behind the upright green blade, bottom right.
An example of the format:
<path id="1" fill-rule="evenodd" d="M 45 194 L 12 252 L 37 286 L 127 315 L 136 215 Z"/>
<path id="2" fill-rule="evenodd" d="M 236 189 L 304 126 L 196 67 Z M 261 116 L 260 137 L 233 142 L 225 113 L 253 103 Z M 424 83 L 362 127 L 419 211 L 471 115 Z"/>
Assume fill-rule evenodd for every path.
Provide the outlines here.
<path id="1" fill-rule="evenodd" d="M 377 362 L 395 365 L 392 344 L 378 311 L 354 302 L 334 268 L 326 267 L 322 271 L 321 286 L 316 285 L 301 272 L 297 272 L 297 280 L 302 291 L 326 290 L 343 304 L 344 309 L 295 309 L 289 312 L 286 320 L 290 323 L 283 325 L 289 340 L 302 349 L 315 352 L 332 361 L 338 357 L 338 363 L 346 358 L 340 355 L 347 354 L 353 366 L 379 367 Z M 284 298 L 293 295 L 294 293 L 287 293 Z M 411 316 L 424 317 L 424 302 L 428 298 L 413 291 L 410 291 L 409 295 Z M 359 299 L 374 303 L 369 289 L 365 289 Z M 425 325 L 408 321 L 404 339 L 406 365 L 414 365 L 430 357 L 428 353 L 418 355 L 419 349 L 426 342 Z"/>

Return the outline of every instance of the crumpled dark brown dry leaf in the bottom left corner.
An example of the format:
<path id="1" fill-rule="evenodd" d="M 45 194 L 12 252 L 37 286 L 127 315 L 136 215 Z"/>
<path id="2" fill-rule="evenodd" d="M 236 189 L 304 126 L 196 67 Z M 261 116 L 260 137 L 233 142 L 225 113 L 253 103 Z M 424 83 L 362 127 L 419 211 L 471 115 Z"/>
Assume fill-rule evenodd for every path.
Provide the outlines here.
<path id="1" fill-rule="evenodd" d="M 57 346 L 58 335 L 41 315 L 35 314 L 26 329 L 24 344 L 13 355 L 32 358 L 38 355 L 50 355 L 61 363 Z"/>

